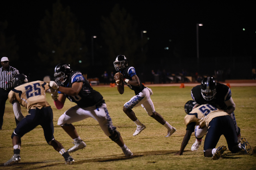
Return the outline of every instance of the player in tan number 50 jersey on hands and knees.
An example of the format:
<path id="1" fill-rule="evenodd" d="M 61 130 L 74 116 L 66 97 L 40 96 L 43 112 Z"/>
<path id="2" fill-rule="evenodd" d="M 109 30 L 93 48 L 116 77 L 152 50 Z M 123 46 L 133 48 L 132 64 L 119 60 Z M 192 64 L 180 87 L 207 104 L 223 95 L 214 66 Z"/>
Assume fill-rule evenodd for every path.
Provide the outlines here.
<path id="1" fill-rule="evenodd" d="M 208 127 L 204 141 L 204 156 L 212 157 L 212 160 L 217 160 L 227 149 L 226 146 L 215 148 L 221 135 L 224 135 L 228 143 L 228 149 L 232 153 L 244 150 L 245 153 L 252 155 L 253 149 L 242 138 L 241 142 L 237 142 L 236 130 L 230 115 L 223 110 L 217 109 L 210 104 L 199 105 L 194 100 L 188 101 L 184 106 L 187 115 L 184 118 L 186 134 L 183 138 L 180 151 L 175 155 L 182 155 L 195 126 L 199 125 L 201 128 Z"/>

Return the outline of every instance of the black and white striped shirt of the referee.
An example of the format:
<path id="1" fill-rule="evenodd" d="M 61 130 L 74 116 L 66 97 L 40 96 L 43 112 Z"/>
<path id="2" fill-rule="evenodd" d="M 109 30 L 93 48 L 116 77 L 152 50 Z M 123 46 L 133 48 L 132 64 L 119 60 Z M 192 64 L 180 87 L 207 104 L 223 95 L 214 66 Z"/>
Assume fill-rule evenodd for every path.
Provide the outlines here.
<path id="1" fill-rule="evenodd" d="M 17 74 L 20 74 L 19 71 L 9 66 L 7 70 L 4 70 L 3 67 L 0 68 L 0 88 L 8 89 L 14 87 L 12 84 L 12 79 Z"/>

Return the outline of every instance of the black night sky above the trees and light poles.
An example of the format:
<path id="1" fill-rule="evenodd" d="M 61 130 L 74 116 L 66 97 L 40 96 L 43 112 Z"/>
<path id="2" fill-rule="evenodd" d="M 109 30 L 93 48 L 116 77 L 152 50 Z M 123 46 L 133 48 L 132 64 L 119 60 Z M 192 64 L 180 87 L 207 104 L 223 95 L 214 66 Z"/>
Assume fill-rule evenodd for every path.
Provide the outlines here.
<path id="1" fill-rule="evenodd" d="M 6 35 L 16 35 L 20 59 L 35 56 L 34 37 L 45 10 L 52 11 L 56 0 L 1 1 L 0 21 L 8 21 Z M 86 33 L 100 36 L 101 16 L 108 17 L 116 3 L 131 14 L 139 30 L 147 30 L 151 54 L 161 55 L 164 47 L 180 43 L 184 57 L 196 59 L 196 23 L 199 27 L 200 57 L 229 57 L 256 55 L 256 13 L 252 1 L 155 1 L 148 0 L 61 0 L 64 7 L 70 6 L 78 23 Z M 243 31 L 243 28 L 245 31 Z M 140 35 L 140 32 L 138 31 Z M 90 43 L 90 41 L 88 41 Z M 2 57 L 2 56 L 1 56 Z"/>

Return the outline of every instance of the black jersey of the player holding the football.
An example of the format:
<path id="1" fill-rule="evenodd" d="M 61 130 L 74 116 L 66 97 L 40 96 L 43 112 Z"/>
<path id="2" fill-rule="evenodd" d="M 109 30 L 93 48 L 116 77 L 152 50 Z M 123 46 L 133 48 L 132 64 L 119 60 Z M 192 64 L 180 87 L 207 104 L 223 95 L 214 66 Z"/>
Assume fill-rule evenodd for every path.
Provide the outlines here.
<path id="1" fill-rule="evenodd" d="M 132 76 L 136 75 L 135 68 L 132 66 L 126 67 L 123 72 L 121 72 L 125 78 L 132 80 Z M 140 80 L 140 78 L 139 78 Z M 139 94 L 144 88 L 146 88 L 140 81 L 140 86 L 132 86 L 131 84 L 128 84 L 124 81 L 124 84 L 126 84 L 130 89 L 134 90 L 135 94 Z"/>

